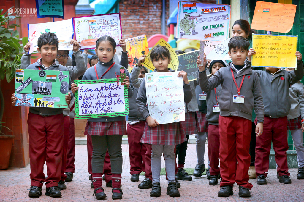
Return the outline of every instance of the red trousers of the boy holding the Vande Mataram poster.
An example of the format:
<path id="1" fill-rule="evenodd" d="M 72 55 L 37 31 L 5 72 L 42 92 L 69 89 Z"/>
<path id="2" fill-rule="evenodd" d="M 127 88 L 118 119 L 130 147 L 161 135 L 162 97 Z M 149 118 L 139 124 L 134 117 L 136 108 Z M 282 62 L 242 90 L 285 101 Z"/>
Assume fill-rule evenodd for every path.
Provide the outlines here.
<path id="1" fill-rule="evenodd" d="M 40 116 L 29 112 L 29 162 L 31 186 L 58 186 L 62 167 L 63 114 Z M 47 162 L 47 179 L 43 165 Z"/>

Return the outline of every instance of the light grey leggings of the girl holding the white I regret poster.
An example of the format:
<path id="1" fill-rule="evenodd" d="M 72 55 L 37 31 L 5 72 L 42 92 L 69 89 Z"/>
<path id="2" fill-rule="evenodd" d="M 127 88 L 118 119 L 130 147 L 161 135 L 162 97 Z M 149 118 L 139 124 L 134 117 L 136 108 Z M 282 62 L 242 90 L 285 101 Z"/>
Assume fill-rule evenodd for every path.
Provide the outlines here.
<path id="1" fill-rule="evenodd" d="M 175 182 L 175 145 L 155 145 L 152 144 L 151 154 L 151 170 L 152 170 L 152 182 L 161 182 L 161 155 L 165 156 L 165 167 L 167 171 L 168 184 L 169 182 Z M 111 165 L 112 167 L 112 165 Z"/>

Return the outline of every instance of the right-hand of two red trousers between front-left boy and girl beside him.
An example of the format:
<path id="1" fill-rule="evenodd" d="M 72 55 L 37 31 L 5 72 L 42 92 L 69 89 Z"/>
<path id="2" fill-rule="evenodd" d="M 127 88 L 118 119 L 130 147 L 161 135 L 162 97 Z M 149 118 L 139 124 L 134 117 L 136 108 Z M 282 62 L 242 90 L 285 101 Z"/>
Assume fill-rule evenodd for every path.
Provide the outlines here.
<path id="1" fill-rule="evenodd" d="M 65 172 L 75 172 L 75 124 L 74 118 L 70 118 L 70 133 L 67 147 L 67 167 Z"/>

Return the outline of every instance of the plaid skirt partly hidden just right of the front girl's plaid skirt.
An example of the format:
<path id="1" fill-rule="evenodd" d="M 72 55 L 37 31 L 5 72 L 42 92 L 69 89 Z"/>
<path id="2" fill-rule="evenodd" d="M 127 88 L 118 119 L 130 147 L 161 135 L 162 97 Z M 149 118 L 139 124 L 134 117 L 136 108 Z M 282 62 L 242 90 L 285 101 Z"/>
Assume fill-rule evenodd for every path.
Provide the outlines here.
<path id="1" fill-rule="evenodd" d="M 196 112 L 188 111 L 185 113 L 185 121 L 181 121 L 181 124 L 184 128 L 185 135 L 197 134 L 199 131 L 199 120 Z"/>

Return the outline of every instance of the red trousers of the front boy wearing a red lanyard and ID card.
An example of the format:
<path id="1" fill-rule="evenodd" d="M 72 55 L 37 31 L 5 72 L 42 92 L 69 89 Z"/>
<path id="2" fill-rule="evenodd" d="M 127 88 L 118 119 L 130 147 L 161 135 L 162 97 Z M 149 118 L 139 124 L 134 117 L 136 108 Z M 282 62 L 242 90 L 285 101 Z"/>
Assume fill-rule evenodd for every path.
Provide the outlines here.
<path id="1" fill-rule="evenodd" d="M 220 187 L 233 186 L 236 182 L 239 186 L 252 188 L 248 182 L 250 139 L 251 120 L 238 116 L 219 116 Z"/>

